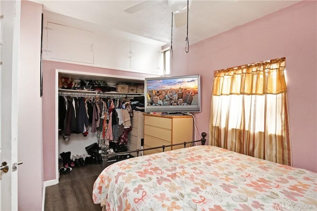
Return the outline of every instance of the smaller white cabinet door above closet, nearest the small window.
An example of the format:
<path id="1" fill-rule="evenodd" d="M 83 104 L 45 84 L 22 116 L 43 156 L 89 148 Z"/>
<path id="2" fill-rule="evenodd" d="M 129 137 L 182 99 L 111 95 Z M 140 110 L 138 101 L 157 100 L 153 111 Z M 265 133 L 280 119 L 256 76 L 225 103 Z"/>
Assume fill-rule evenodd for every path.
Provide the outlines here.
<path id="1" fill-rule="evenodd" d="M 161 46 L 130 42 L 130 69 L 161 74 Z"/>

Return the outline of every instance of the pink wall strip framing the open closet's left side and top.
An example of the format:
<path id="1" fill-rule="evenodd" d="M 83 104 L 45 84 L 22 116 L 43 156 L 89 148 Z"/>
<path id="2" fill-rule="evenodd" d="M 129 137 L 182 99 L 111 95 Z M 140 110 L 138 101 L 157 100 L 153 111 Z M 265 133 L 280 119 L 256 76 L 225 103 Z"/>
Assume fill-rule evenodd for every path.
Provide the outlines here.
<path id="1" fill-rule="evenodd" d="M 88 74 L 106 74 L 120 77 L 146 78 L 153 75 L 140 74 L 105 68 L 97 68 L 69 63 L 43 62 L 43 161 L 44 180 L 55 179 L 55 69 L 86 72 Z"/>

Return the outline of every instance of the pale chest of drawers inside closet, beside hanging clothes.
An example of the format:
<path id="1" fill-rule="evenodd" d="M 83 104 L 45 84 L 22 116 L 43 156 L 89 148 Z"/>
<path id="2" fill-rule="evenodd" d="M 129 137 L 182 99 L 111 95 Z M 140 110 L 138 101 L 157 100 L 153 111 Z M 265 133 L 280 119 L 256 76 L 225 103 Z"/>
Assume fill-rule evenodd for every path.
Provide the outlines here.
<path id="1" fill-rule="evenodd" d="M 132 117 L 132 130 L 128 134 L 127 147 L 129 151 L 141 149 L 141 138 L 144 135 L 144 112 L 133 111 Z M 131 153 L 132 156 L 136 157 L 137 153 Z M 140 154 L 139 154 L 140 156 Z"/>

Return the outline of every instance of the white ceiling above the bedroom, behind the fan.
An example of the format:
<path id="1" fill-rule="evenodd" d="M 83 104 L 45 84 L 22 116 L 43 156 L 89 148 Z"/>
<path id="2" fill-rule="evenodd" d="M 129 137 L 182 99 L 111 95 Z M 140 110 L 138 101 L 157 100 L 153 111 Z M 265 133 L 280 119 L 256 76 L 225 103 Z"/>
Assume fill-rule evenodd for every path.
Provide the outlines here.
<path id="1" fill-rule="evenodd" d="M 32 0 L 48 11 L 80 20 L 170 43 L 171 11 L 166 0 L 151 0 L 151 6 L 129 14 L 125 8 L 143 0 Z M 189 8 L 188 37 L 190 44 L 225 32 L 299 0 L 193 0 Z M 185 25 L 175 27 L 173 43 L 185 45 Z"/>

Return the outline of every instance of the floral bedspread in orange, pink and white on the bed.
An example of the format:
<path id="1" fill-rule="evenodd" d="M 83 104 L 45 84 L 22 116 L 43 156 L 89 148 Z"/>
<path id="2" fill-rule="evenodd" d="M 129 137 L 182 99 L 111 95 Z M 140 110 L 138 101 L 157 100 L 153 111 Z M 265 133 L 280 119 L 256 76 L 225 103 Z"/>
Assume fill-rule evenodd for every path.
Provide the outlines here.
<path id="1" fill-rule="evenodd" d="M 96 179 L 104 210 L 317 210 L 317 173 L 213 146 L 131 158 Z"/>

